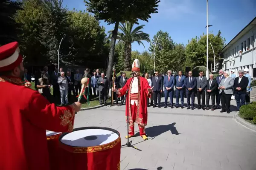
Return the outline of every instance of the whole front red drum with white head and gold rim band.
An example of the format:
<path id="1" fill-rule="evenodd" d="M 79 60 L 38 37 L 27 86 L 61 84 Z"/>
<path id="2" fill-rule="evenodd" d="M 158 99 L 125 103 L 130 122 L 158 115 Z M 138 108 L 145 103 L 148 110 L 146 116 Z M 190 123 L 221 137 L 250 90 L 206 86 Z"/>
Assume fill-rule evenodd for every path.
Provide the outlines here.
<path id="1" fill-rule="evenodd" d="M 121 138 L 107 127 L 81 127 L 63 133 L 61 170 L 120 170 Z"/>

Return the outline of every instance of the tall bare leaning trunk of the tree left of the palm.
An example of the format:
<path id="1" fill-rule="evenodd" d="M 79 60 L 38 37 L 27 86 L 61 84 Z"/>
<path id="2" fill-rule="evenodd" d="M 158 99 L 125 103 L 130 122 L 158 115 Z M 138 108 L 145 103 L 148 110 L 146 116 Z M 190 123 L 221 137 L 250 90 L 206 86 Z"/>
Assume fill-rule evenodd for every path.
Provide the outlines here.
<path id="1" fill-rule="evenodd" d="M 112 31 L 112 37 L 111 37 L 111 42 L 110 42 L 110 51 L 109 51 L 109 57 L 108 57 L 107 78 L 108 78 L 109 82 L 111 81 L 110 76 L 113 73 L 113 61 L 114 61 L 114 52 L 115 52 L 118 26 L 119 26 L 119 21 L 116 21 L 115 28 Z"/>

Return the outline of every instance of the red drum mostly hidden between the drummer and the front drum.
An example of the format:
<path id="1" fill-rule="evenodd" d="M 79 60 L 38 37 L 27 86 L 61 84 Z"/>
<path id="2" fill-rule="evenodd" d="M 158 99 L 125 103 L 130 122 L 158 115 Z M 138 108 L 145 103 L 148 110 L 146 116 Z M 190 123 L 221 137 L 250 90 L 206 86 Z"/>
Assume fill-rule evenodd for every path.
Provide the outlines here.
<path id="1" fill-rule="evenodd" d="M 60 136 L 61 132 L 46 131 L 50 170 L 58 169 L 58 166 L 61 163 L 61 153 L 58 141 Z"/>

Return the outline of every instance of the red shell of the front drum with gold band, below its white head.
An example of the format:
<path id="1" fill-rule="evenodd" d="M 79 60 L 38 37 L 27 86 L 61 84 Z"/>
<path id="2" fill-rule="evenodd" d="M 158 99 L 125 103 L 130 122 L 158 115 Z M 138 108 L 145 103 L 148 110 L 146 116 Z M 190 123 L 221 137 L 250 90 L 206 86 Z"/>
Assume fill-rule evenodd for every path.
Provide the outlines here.
<path id="1" fill-rule="evenodd" d="M 120 170 L 120 135 L 113 142 L 95 147 L 73 147 L 61 142 L 59 146 L 61 170 Z"/>

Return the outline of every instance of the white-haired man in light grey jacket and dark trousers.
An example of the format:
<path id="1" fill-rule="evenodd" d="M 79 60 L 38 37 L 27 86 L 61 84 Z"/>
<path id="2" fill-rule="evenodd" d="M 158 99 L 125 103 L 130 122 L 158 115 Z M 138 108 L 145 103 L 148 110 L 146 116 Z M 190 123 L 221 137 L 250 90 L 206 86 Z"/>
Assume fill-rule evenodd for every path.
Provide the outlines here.
<path id="1" fill-rule="evenodd" d="M 221 113 L 230 113 L 230 100 L 233 94 L 234 79 L 229 77 L 229 72 L 224 72 L 225 79 L 221 80 L 218 89 L 221 94 Z"/>

